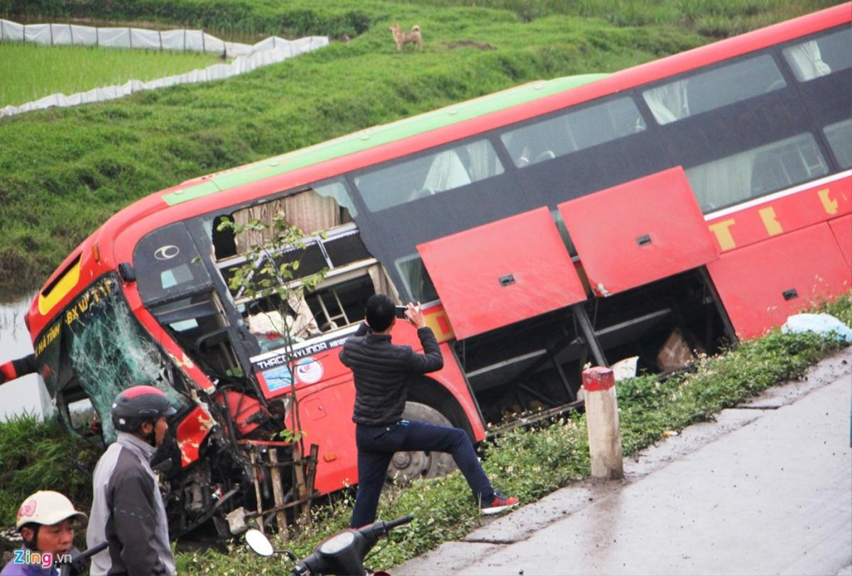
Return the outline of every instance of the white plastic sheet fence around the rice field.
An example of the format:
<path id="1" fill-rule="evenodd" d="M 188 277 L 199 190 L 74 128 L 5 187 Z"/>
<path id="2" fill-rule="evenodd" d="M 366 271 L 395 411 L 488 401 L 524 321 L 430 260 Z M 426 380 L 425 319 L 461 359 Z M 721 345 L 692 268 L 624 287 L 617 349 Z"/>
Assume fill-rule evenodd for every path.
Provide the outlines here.
<path id="1" fill-rule="evenodd" d="M 143 33 L 144 32 L 144 33 Z M 153 43 L 156 39 L 157 43 Z M 185 74 L 169 76 L 141 82 L 130 80 L 120 86 L 94 88 L 89 92 L 78 94 L 51 94 L 40 100 L 28 102 L 21 106 L 6 106 L 0 108 L 0 118 L 14 116 L 23 112 L 43 110 L 51 106 L 78 106 L 90 102 L 113 100 L 139 92 L 166 88 L 175 84 L 188 84 L 221 80 L 245 74 L 259 68 L 275 64 L 298 54 L 310 52 L 316 48 L 328 46 L 328 37 L 309 36 L 298 40 L 285 40 L 279 37 L 269 37 L 253 46 L 248 44 L 225 43 L 216 37 L 205 34 L 200 30 L 171 30 L 154 31 L 140 28 L 92 28 L 89 26 L 72 26 L 68 24 L 16 24 L 9 20 L 0 19 L 0 40 L 13 42 L 35 42 L 44 45 L 75 45 L 102 46 L 112 48 L 147 48 L 166 50 L 197 50 L 213 54 L 241 54 L 230 64 L 214 64 L 202 70 L 193 70 Z"/>

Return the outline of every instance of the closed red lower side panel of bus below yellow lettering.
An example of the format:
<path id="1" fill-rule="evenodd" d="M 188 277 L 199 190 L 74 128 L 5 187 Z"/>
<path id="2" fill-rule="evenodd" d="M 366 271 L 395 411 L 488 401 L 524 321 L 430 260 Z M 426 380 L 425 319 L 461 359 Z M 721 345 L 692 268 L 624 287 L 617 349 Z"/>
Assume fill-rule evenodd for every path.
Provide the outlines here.
<path id="1" fill-rule="evenodd" d="M 722 254 L 707 270 L 742 339 L 759 336 L 812 303 L 852 288 L 849 266 L 827 224 Z M 790 290 L 797 296 L 786 299 Z"/>

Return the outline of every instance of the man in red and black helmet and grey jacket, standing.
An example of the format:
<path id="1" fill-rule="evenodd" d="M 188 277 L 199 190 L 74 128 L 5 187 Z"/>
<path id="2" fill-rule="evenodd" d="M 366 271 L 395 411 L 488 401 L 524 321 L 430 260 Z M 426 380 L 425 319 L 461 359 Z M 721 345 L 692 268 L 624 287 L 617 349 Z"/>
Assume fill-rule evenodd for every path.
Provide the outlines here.
<path id="1" fill-rule="evenodd" d="M 118 438 L 95 466 L 94 498 L 86 531 L 89 547 L 109 548 L 92 556 L 90 573 L 173 574 L 169 525 L 151 457 L 175 413 L 162 391 L 133 386 L 112 403 Z"/>

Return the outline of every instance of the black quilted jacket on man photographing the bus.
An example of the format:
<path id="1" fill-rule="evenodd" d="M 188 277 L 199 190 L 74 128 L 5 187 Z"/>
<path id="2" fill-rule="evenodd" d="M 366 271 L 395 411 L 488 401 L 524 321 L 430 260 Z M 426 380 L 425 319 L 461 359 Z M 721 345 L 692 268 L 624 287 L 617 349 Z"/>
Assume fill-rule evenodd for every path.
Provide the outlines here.
<path id="1" fill-rule="evenodd" d="M 340 361 L 355 376 L 356 424 L 385 425 L 396 422 L 406 407 L 408 379 L 444 367 L 432 328 L 417 329 L 423 354 L 411 346 L 394 345 L 390 334 L 372 334 L 365 323 L 346 340 Z"/>

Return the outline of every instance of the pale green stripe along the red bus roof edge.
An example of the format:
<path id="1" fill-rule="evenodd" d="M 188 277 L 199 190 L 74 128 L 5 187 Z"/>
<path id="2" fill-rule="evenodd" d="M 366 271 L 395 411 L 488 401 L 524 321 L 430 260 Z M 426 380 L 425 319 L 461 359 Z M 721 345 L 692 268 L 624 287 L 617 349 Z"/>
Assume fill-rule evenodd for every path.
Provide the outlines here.
<path id="1" fill-rule="evenodd" d="M 224 172 L 213 174 L 203 183 L 187 186 L 182 190 L 165 194 L 163 199 L 170 206 L 205 197 L 217 191 L 228 190 L 239 185 L 249 184 L 278 174 L 285 174 L 298 168 L 332 160 L 375 148 L 395 140 L 402 140 L 416 134 L 423 134 L 436 128 L 444 128 L 470 118 L 484 116 L 511 106 L 525 104 L 545 96 L 557 94 L 569 88 L 595 82 L 608 74 L 582 74 L 527 83 L 517 88 L 509 88 L 496 94 L 481 96 L 439 110 L 425 112 L 415 117 L 394 123 L 366 128 L 354 134 L 348 134 L 321 144 L 287 152 L 260 162 L 246 164 Z"/>

